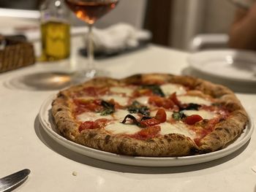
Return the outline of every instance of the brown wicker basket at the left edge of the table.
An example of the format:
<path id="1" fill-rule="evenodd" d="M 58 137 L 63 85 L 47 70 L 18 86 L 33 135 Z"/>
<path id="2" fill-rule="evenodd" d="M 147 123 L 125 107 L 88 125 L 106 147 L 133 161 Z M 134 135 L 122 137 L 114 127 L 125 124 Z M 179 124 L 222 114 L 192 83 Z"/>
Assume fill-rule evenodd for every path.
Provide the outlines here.
<path id="1" fill-rule="evenodd" d="M 0 50 L 0 72 L 34 64 L 34 47 L 31 43 L 11 38 L 0 38 L 0 40 L 4 40 L 5 44 L 4 49 Z"/>

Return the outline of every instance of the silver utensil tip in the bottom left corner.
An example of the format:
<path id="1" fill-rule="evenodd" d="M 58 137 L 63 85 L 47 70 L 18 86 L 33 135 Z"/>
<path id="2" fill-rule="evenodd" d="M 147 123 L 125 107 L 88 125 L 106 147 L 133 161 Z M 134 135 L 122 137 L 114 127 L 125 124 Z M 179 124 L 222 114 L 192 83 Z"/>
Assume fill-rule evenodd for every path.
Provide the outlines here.
<path id="1" fill-rule="evenodd" d="M 29 176 L 30 170 L 23 169 L 0 179 L 0 192 L 10 191 L 18 187 Z"/>

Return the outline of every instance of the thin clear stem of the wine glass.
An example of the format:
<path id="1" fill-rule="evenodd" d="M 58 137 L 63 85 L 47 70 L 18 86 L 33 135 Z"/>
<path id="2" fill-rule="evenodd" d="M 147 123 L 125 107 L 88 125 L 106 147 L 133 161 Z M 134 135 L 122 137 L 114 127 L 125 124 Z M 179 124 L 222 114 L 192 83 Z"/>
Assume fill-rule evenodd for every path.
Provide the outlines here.
<path id="1" fill-rule="evenodd" d="M 88 57 L 88 69 L 91 76 L 95 74 L 95 67 L 94 67 L 94 40 L 92 34 L 92 24 L 89 24 L 89 33 L 87 39 L 87 57 Z"/>

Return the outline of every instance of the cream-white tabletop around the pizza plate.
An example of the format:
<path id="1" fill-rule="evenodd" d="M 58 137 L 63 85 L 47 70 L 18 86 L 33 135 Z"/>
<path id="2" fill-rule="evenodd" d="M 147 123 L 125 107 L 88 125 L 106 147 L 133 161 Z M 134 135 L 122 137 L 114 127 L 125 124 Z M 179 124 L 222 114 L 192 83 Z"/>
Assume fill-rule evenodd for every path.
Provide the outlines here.
<path id="1" fill-rule="evenodd" d="M 73 47 L 83 46 L 73 39 Z M 37 63 L 0 74 L 0 177 L 31 169 L 28 180 L 15 191 L 256 191 L 256 133 L 235 153 L 203 164 L 176 167 L 141 167 L 113 164 L 80 155 L 48 137 L 39 123 L 39 108 L 58 90 L 15 86 L 13 80 L 45 72 L 72 72 L 86 59 L 73 49 L 70 61 Z M 181 74 L 187 56 L 178 50 L 149 45 L 133 53 L 97 61 L 110 77 L 167 72 Z M 13 84 L 13 85 L 12 85 Z M 236 93 L 252 117 L 256 94 Z M 255 121 L 254 121 L 255 123 Z M 76 175 L 74 175 L 76 173 Z"/>

